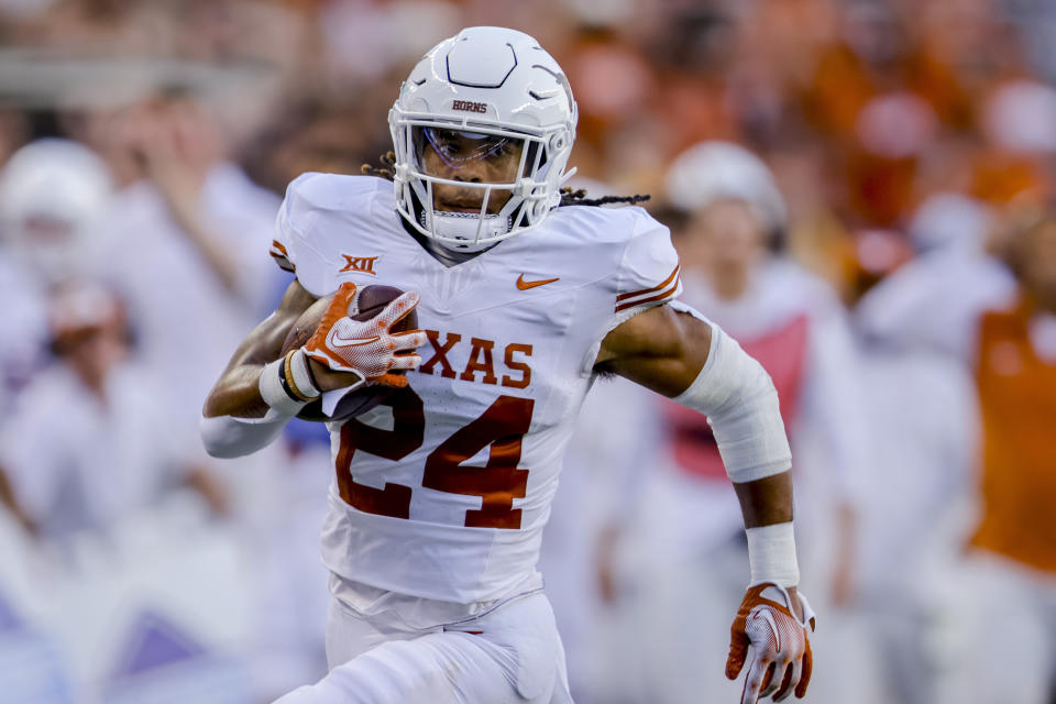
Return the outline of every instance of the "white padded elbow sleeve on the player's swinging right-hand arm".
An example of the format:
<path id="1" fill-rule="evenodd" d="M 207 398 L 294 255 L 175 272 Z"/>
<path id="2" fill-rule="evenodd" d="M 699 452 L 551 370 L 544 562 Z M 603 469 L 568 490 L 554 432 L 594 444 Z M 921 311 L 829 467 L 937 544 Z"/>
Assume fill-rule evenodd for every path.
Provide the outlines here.
<path id="1" fill-rule="evenodd" d="M 751 482 L 792 466 L 778 392 L 762 365 L 712 326 L 704 369 L 675 402 L 707 416 L 726 473 Z"/>

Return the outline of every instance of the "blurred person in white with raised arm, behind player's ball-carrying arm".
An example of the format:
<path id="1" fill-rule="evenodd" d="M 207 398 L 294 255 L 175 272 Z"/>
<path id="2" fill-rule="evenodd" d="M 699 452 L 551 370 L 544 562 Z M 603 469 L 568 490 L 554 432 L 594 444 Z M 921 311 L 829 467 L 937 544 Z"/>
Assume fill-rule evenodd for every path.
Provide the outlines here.
<path id="1" fill-rule="evenodd" d="M 223 134 L 193 96 L 95 120 L 106 120 L 92 134 L 122 178 L 99 271 L 128 292 L 143 360 L 172 399 L 173 432 L 197 447 L 205 393 L 279 275 L 267 255 L 278 200 L 227 161 Z"/>

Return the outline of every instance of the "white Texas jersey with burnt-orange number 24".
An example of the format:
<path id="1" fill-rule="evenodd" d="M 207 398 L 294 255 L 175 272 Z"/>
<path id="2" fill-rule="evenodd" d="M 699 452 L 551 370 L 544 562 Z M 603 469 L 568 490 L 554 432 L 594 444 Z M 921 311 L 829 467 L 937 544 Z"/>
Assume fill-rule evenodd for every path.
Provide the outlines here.
<path id="1" fill-rule="evenodd" d="M 327 566 L 425 598 L 508 595 L 535 573 L 602 339 L 681 292 L 668 229 L 640 208 L 562 207 L 448 267 L 404 229 L 391 183 L 306 174 L 277 230 L 272 254 L 311 294 L 418 292 L 429 336 L 409 388 L 331 424 Z"/>

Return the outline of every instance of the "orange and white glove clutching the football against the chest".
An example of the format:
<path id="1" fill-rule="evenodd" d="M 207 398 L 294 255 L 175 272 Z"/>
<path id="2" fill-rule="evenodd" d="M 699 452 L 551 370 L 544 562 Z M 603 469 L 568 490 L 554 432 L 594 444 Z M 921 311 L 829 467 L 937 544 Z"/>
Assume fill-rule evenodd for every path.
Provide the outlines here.
<path id="1" fill-rule="evenodd" d="M 428 338 L 421 330 L 393 334 L 389 328 L 414 310 L 418 294 L 400 295 L 364 321 L 349 317 L 349 306 L 354 300 L 355 284 L 341 284 L 315 334 L 305 344 L 305 354 L 334 372 L 354 372 L 369 384 L 407 386 L 406 376 L 389 372 L 418 369 L 421 355 L 414 350 Z"/>

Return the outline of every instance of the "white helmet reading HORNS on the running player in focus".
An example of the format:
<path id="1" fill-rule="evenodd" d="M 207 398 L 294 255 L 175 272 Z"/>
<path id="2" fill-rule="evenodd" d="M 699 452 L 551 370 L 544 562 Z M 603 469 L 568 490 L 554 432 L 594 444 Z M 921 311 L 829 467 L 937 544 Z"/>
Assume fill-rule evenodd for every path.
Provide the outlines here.
<path id="1" fill-rule="evenodd" d="M 569 81 L 536 40 L 503 28 L 462 30 L 422 57 L 388 113 L 399 213 L 418 232 L 463 252 L 536 227 L 574 172 L 565 166 L 575 122 Z M 440 160 L 433 173 L 426 168 L 427 150 Z M 518 150 L 512 178 L 480 177 L 481 162 L 516 158 Z M 437 185 L 458 188 L 455 207 L 435 207 Z"/>

